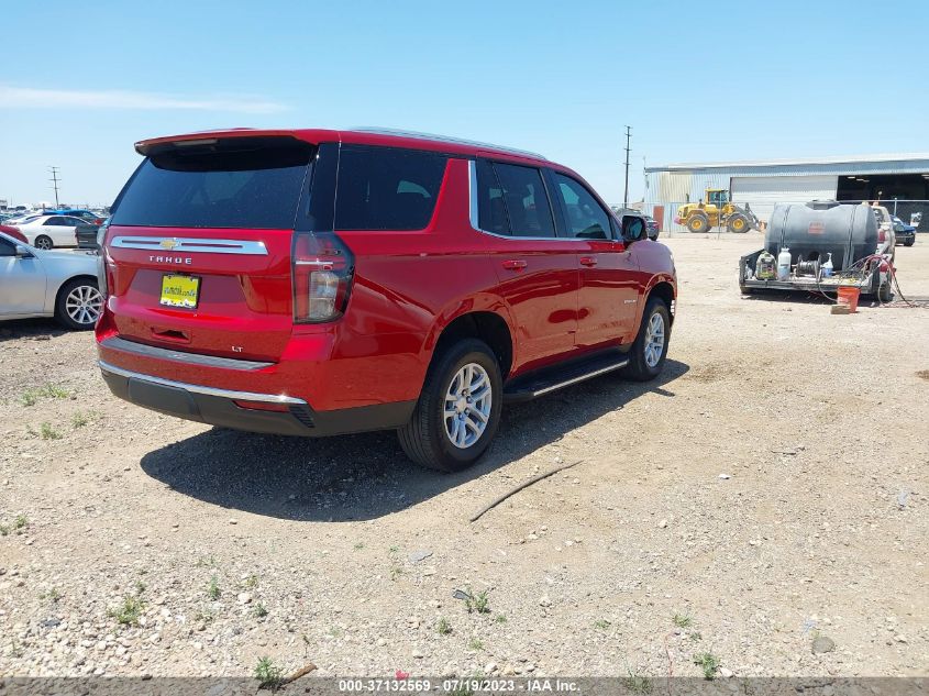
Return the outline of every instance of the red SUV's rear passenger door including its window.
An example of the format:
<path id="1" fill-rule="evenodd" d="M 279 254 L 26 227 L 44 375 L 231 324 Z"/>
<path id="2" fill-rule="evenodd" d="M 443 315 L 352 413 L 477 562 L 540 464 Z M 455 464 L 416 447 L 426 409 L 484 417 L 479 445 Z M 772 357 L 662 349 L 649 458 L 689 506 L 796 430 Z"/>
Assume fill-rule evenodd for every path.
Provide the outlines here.
<path id="1" fill-rule="evenodd" d="M 574 350 L 580 244 L 558 237 L 542 172 L 478 158 L 477 228 L 516 320 L 516 361 L 541 366 Z"/>

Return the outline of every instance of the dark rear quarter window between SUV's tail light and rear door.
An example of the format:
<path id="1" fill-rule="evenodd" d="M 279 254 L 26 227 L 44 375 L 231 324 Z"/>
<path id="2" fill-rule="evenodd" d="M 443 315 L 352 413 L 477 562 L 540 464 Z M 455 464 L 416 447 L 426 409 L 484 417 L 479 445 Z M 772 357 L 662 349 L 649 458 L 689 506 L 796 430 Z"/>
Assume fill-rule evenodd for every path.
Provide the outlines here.
<path id="1" fill-rule="evenodd" d="M 339 157 L 336 230 L 422 230 L 432 219 L 447 157 L 345 145 Z"/>

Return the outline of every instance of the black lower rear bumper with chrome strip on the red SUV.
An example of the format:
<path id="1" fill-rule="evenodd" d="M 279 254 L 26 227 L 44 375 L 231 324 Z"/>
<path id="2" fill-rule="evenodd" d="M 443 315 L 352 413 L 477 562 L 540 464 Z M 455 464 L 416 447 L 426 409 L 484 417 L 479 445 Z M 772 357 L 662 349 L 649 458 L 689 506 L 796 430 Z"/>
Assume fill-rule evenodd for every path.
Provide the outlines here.
<path id="1" fill-rule="evenodd" d="M 107 386 L 136 406 L 211 426 L 281 435 L 324 437 L 390 430 L 406 423 L 416 401 L 397 401 L 332 411 L 313 411 L 296 397 L 234 391 L 175 382 L 99 362 Z M 252 401 L 286 410 L 245 408 Z"/>

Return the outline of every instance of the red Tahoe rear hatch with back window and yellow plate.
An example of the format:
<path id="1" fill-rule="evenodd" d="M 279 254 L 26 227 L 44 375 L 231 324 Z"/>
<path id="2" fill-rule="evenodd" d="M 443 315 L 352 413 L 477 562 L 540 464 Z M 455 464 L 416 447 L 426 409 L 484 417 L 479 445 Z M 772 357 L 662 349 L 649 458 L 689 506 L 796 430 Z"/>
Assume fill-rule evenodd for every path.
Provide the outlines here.
<path id="1" fill-rule="evenodd" d="M 146 148 L 107 233 L 119 335 L 277 361 L 292 328 L 291 241 L 314 153 L 277 135 Z"/>

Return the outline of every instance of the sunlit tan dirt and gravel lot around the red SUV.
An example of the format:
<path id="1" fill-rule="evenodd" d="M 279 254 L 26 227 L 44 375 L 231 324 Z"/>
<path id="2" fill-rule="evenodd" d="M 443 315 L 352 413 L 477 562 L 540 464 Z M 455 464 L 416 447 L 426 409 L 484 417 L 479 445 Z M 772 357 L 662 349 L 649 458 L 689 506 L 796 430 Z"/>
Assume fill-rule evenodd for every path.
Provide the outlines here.
<path id="1" fill-rule="evenodd" d="M 929 674 L 929 310 L 742 299 L 759 240 L 670 240 L 665 376 L 509 408 L 452 476 L 157 416 L 89 334 L 0 327 L 0 674 Z M 897 263 L 929 296 L 929 235 Z"/>

